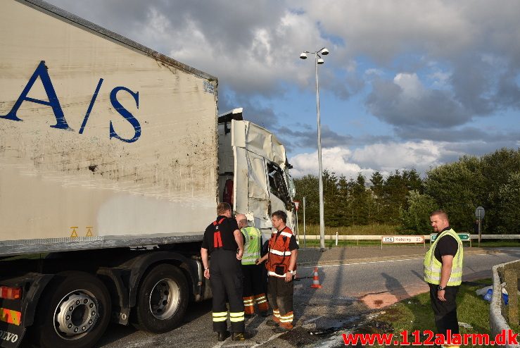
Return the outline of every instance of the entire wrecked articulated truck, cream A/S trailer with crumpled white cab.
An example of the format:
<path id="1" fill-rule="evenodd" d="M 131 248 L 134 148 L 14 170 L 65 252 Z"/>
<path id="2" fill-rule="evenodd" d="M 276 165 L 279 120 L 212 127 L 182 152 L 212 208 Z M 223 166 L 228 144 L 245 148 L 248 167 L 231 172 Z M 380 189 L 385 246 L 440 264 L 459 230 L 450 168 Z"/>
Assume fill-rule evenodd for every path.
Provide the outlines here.
<path id="1" fill-rule="evenodd" d="M 219 201 L 269 235 L 293 189 L 267 130 L 218 117 L 217 79 L 39 0 L 0 1 L 0 347 L 154 333 L 210 297 Z"/>

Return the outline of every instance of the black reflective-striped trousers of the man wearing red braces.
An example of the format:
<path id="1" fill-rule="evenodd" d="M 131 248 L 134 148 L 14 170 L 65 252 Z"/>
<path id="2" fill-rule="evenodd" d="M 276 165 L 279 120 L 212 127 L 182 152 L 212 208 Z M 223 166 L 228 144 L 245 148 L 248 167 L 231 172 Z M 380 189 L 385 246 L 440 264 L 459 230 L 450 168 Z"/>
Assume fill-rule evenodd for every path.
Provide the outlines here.
<path id="1" fill-rule="evenodd" d="M 210 286 L 213 293 L 213 331 L 227 330 L 226 299 L 229 301 L 229 320 L 233 333 L 245 331 L 241 261 L 236 251 L 215 249 L 211 253 Z"/>

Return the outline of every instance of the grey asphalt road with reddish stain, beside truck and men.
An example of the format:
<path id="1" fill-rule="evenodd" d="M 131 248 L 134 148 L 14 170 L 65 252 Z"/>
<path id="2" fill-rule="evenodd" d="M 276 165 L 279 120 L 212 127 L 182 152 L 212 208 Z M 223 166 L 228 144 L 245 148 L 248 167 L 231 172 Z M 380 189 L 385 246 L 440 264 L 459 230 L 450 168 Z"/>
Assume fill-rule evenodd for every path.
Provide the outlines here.
<path id="1" fill-rule="evenodd" d="M 501 248 L 496 254 L 482 252 L 464 256 L 464 281 L 490 278 L 491 267 L 519 259 L 520 249 Z M 246 342 L 216 341 L 211 328 L 211 302 L 192 304 L 184 325 L 162 335 L 131 327 L 111 325 L 99 342 L 103 348 L 166 347 L 344 347 L 341 332 L 379 311 L 383 306 L 427 291 L 422 280 L 420 255 L 383 261 L 347 260 L 319 266 L 321 289 L 311 289 L 313 266 L 300 266 L 295 283 L 296 328 L 274 334 L 265 318 L 253 317 L 246 330 L 253 338 Z"/>

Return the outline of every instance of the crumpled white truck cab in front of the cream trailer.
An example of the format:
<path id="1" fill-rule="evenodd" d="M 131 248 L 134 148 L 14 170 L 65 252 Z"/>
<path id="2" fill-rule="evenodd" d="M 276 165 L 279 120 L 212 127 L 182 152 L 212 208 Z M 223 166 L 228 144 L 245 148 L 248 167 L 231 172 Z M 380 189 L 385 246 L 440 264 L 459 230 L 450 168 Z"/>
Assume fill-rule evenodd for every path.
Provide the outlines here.
<path id="1" fill-rule="evenodd" d="M 242 108 L 219 116 L 218 134 L 221 200 L 246 215 L 262 231 L 263 240 L 269 239 L 271 213 L 278 210 L 286 211 L 287 225 L 296 232 L 291 165 L 281 142 L 265 128 L 243 120 Z"/>

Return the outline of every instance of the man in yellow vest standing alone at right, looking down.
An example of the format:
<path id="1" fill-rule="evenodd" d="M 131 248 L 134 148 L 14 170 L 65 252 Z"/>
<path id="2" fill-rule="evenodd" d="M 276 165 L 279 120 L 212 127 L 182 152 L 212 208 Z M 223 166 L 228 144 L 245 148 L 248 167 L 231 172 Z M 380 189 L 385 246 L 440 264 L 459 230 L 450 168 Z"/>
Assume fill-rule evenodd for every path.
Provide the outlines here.
<path id="1" fill-rule="evenodd" d="M 424 256 L 424 280 L 430 286 L 431 308 L 437 331 L 448 340 L 447 335 L 459 333 L 455 300 L 462 282 L 464 250 L 459 236 L 450 228 L 448 215 L 444 211 L 433 211 L 430 222 L 438 235 Z"/>

